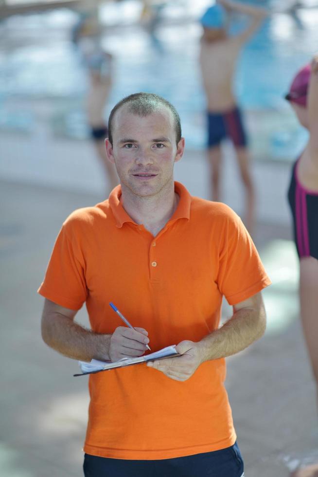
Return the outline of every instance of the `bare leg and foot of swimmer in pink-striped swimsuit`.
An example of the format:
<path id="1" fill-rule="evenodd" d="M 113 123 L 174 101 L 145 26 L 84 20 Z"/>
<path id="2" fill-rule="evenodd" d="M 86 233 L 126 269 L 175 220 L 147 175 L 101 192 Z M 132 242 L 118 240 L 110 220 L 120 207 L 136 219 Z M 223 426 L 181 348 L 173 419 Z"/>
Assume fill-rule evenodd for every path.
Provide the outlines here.
<path id="1" fill-rule="evenodd" d="M 300 314 L 318 389 L 318 260 L 314 257 L 300 259 Z M 291 477 L 318 477 L 318 463 L 293 472 Z"/>

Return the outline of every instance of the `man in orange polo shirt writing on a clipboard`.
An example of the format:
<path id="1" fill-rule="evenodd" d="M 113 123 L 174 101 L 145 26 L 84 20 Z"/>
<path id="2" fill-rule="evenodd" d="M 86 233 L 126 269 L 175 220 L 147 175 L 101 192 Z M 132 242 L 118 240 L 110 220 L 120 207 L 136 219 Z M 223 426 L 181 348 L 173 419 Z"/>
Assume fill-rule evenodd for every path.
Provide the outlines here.
<path id="1" fill-rule="evenodd" d="M 120 185 L 64 222 L 39 288 L 42 336 L 83 361 L 141 356 L 148 343 L 180 356 L 90 375 L 85 476 L 241 477 L 224 358 L 263 335 L 270 280 L 230 207 L 174 182 L 184 139 L 170 103 L 130 95 L 108 131 Z M 219 328 L 223 296 L 233 315 Z M 84 303 L 91 330 L 74 321 Z"/>

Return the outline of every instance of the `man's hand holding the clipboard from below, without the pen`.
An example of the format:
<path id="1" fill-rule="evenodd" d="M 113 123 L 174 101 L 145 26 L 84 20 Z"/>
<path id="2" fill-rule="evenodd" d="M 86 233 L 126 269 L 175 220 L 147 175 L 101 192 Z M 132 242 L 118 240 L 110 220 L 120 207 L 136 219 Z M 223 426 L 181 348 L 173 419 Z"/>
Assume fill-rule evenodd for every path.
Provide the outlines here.
<path id="1" fill-rule="evenodd" d="M 158 369 L 168 378 L 186 381 L 202 363 L 199 344 L 193 341 L 181 341 L 176 349 L 181 356 L 149 361 L 147 366 Z"/>

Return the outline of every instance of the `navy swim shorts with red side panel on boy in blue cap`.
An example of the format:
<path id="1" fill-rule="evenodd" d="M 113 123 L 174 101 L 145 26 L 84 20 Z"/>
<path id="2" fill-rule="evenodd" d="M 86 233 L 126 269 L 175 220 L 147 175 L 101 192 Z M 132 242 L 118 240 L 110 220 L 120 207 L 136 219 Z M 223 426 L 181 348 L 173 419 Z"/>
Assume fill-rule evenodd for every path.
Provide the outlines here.
<path id="1" fill-rule="evenodd" d="M 247 136 L 239 108 L 223 112 L 208 112 L 208 147 L 219 146 L 229 138 L 235 147 L 247 146 Z"/>

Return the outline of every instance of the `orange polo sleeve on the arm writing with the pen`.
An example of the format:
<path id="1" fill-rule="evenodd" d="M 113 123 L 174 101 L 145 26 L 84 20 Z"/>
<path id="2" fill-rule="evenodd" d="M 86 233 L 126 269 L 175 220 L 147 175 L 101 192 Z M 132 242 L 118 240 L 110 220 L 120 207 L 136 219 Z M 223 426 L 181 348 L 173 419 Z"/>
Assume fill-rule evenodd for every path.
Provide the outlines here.
<path id="1" fill-rule="evenodd" d="M 70 222 L 63 224 L 56 238 L 38 293 L 71 310 L 79 310 L 86 301 L 85 260 Z"/>

